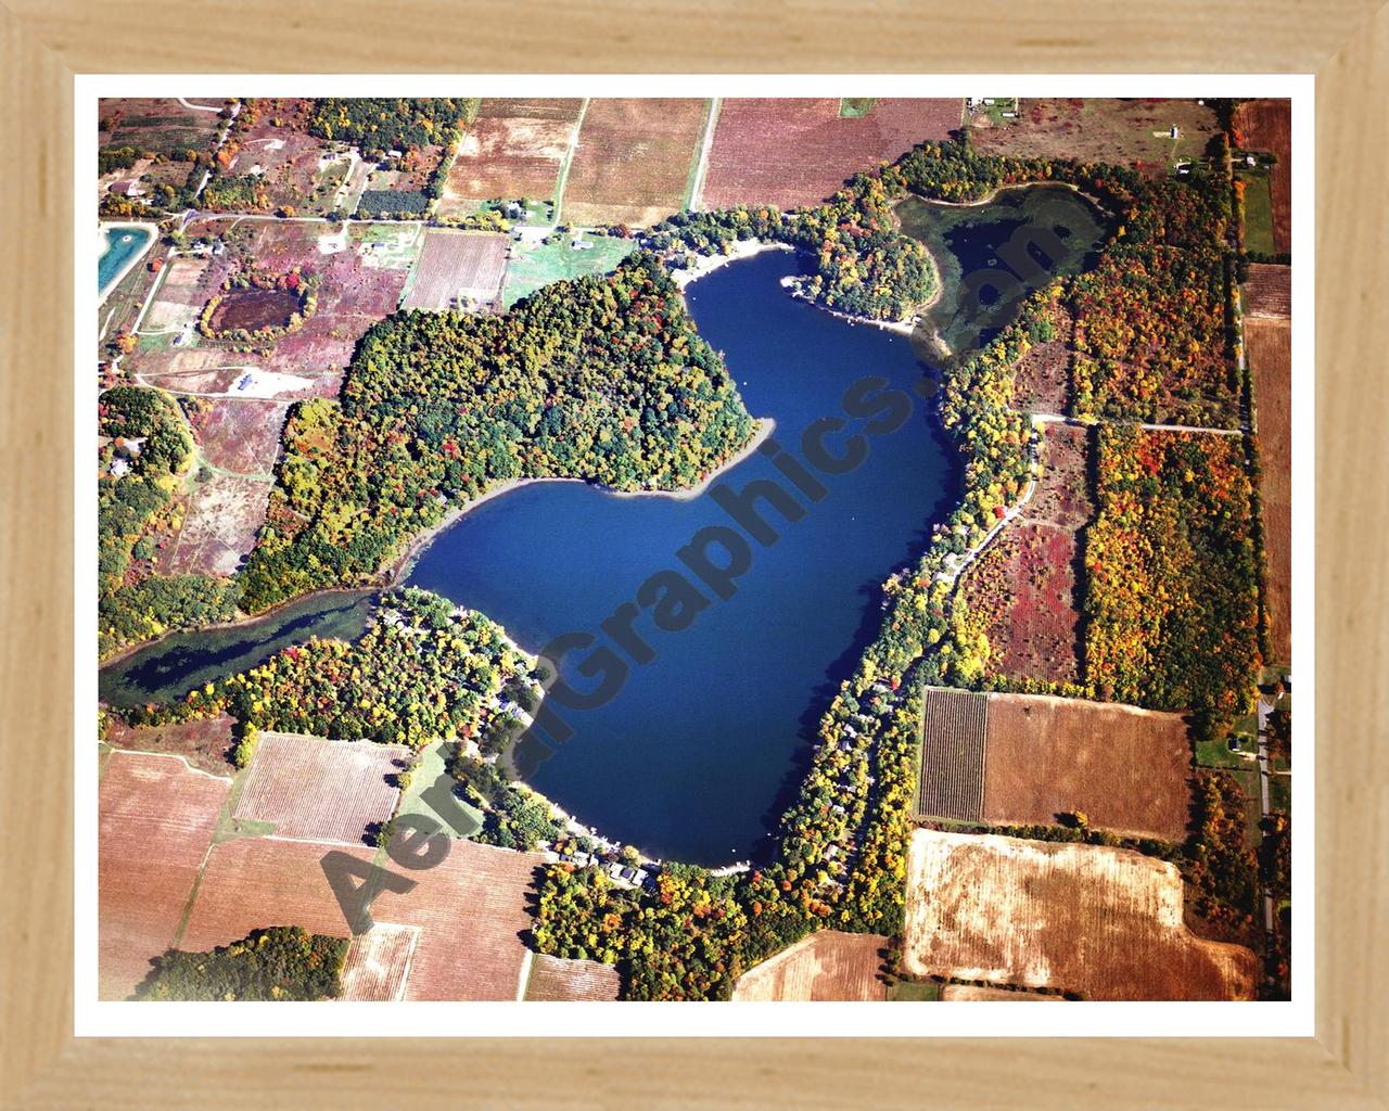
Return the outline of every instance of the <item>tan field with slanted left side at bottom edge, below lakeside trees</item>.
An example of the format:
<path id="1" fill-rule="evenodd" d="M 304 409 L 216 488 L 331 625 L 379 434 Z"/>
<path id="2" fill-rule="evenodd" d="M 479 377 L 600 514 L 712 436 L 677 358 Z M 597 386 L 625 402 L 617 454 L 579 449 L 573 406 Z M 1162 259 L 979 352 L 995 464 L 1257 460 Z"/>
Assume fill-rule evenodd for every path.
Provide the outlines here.
<path id="1" fill-rule="evenodd" d="M 735 1003 L 881 1003 L 888 939 L 821 930 L 738 978 Z"/>

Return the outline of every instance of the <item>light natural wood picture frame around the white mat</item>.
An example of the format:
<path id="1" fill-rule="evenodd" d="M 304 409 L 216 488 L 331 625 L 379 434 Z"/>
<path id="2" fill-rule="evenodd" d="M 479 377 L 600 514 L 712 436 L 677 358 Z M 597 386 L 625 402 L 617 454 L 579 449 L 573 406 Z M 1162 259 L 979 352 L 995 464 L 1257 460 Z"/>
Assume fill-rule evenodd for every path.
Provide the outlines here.
<path id="1" fill-rule="evenodd" d="M 526 11 L 533 7 L 532 11 Z M 414 0 L 286 10 L 18 0 L 0 7 L 0 762 L 4 1107 L 1389 1107 L 1389 787 L 1382 521 L 1389 494 L 1383 231 L 1389 8 L 1290 0 L 1218 8 L 728 0 L 601 14 L 468 12 Z M 514 28 L 533 35 L 517 35 Z M 197 31 L 215 26 L 217 50 Z M 428 26 L 428 33 L 421 29 Z M 201 50 L 197 47 L 203 46 Z M 72 75 L 381 72 L 1317 74 L 1317 1037 L 468 1043 L 143 1042 L 72 1036 Z M 78 650 L 82 640 L 76 640 Z M 1232 1012 L 1232 1028 L 1238 1028 Z M 385 1018 L 385 1012 L 383 1012 Z M 775 1022 L 775 1014 L 768 1014 Z M 1039 1026 L 1039 1032 L 1045 1032 Z M 472 1033 L 440 1030 L 440 1033 Z M 1013 1068 L 1000 1068 L 1008 1060 Z"/>

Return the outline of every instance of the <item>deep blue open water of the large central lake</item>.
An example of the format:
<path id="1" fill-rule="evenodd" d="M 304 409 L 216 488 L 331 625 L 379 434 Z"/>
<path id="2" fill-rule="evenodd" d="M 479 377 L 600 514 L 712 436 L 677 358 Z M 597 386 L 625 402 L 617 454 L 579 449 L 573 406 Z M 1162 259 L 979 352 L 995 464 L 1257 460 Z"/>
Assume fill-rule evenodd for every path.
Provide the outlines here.
<path id="1" fill-rule="evenodd" d="M 828 494 L 797 500 L 779 533 L 749 542 L 751 565 L 728 600 L 679 632 L 650 615 L 635 628 L 654 660 L 631 660 L 618 694 L 594 710 L 560 708 L 574 735 L 529 782 L 606 836 L 667 860 L 728 864 L 760 857 L 804 768 L 820 715 L 882 617 L 881 583 L 922 551 L 931 526 L 960 496 L 953 449 L 915 392 L 924 376 L 906 336 L 854 326 L 786 294 L 797 258 L 764 253 L 732 262 L 686 290 L 700 333 L 724 353 L 747 410 L 776 422 L 774 439 L 800 456 L 804 429 L 843 415 L 858 379 L 913 399 L 903 428 L 867 436 L 868 458 L 820 475 Z M 850 419 L 835 437 L 863 429 Z M 408 582 L 479 610 L 528 650 L 561 633 L 608 642 L 603 621 L 657 571 L 685 571 L 676 551 L 701 528 L 731 525 L 714 490 L 779 481 L 754 453 L 693 499 L 624 497 L 575 482 L 517 487 L 465 514 L 421 554 Z M 563 661 L 575 674 L 585 651 Z M 550 704 L 553 704 L 553 699 Z M 558 707 L 557 707 L 558 708 Z"/>

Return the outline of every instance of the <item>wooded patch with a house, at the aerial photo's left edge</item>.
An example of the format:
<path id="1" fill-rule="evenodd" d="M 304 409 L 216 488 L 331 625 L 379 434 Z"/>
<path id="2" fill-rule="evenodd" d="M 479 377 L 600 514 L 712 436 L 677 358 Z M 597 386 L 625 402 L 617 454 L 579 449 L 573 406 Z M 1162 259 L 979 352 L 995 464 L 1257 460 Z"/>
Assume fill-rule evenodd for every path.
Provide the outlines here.
<path id="1" fill-rule="evenodd" d="M 193 457 L 175 404 L 157 390 L 117 386 L 101 394 L 97 422 L 106 439 L 97 478 L 100 657 L 169 629 L 229 619 L 236 590 L 225 579 L 156 574 L 160 537 L 172 535 L 174 493 Z"/>

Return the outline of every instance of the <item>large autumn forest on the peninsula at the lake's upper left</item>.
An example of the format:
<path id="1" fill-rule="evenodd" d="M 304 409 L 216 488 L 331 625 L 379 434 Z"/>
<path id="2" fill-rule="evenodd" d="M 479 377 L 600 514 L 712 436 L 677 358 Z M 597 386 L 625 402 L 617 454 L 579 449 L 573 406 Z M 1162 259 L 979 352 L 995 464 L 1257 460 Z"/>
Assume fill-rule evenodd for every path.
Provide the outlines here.
<path id="1" fill-rule="evenodd" d="M 546 286 L 504 315 L 396 314 L 358 344 L 339 401 L 292 411 L 243 605 L 369 580 L 497 482 L 679 489 L 751 432 L 649 254 Z"/>

